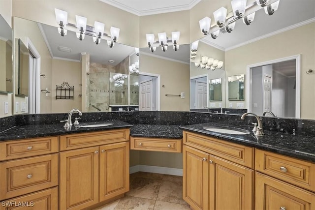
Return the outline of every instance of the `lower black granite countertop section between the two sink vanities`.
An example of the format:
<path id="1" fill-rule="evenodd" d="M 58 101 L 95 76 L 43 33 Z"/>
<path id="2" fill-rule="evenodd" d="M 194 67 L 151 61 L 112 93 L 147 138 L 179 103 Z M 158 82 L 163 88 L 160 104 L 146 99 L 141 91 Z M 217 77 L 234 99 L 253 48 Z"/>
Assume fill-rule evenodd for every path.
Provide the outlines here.
<path id="1" fill-rule="evenodd" d="M 130 136 L 182 139 L 183 131 L 179 125 L 135 124 L 130 129 Z"/>

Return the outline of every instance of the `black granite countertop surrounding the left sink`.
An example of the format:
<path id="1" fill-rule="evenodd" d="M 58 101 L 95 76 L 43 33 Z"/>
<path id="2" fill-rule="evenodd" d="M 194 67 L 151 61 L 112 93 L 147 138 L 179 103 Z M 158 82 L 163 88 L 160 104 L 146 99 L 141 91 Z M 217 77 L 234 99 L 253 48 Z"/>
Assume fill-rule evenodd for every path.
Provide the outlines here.
<path id="1" fill-rule="evenodd" d="M 97 123 L 97 122 L 93 122 L 93 123 Z M 113 124 L 104 126 L 104 127 L 89 127 L 89 128 L 75 127 L 72 125 L 69 129 L 65 129 L 63 127 L 64 123 L 15 126 L 13 128 L 10 128 L 6 131 L 1 132 L 0 141 L 44 137 L 44 136 L 57 136 L 57 135 L 65 135 L 65 134 L 71 134 L 71 133 L 82 133 L 82 132 L 92 132 L 92 131 L 102 131 L 102 130 L 132 127 L 131 124 L 128 124 L 120 120 L 107 120 L 107 121 L 102 121 L 101 123 L 113 123 Z"/>

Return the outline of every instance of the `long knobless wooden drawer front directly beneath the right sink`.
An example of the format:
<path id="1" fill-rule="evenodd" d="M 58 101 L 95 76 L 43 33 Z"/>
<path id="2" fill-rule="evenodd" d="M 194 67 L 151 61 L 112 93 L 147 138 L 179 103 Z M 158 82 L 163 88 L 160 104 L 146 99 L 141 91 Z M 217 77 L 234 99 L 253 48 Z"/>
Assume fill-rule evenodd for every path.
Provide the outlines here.
<path id="1" fill-rule="evenodd" d="M 185 145 L 253 169 L 253 148 L 191 132 L 183 132 Z"/>

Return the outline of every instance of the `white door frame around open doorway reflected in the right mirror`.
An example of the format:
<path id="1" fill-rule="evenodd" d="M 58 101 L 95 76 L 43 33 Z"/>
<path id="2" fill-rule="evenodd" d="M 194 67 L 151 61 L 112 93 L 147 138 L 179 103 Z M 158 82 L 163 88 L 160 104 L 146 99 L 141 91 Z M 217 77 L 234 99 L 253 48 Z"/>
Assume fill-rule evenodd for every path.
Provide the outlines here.
<path id="1" fill-rule="evenodd" d="M 268 60 L 265 62 L 254 63 L 247 65 L 246 73 L 248 79 L 246 80 L 246 105 L 248 112 L 252 112 L 252 68 L 264 65 L 270 65 L 278 62 L 295 60 L 295 118 L 301 118 L 301 54 L 284 57 L 281 59 Z"/>

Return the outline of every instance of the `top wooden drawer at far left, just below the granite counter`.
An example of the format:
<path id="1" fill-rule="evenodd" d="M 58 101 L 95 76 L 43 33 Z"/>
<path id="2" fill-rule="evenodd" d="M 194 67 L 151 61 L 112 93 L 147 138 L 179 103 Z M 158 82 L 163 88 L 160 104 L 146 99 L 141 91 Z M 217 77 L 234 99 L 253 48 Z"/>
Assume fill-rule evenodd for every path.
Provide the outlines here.
<path id="1" fill-rule="evenodd" d="M 58 136 L 0 143 L 0 160 L 11 160 L 54 152 L 58 152 Z"/>

